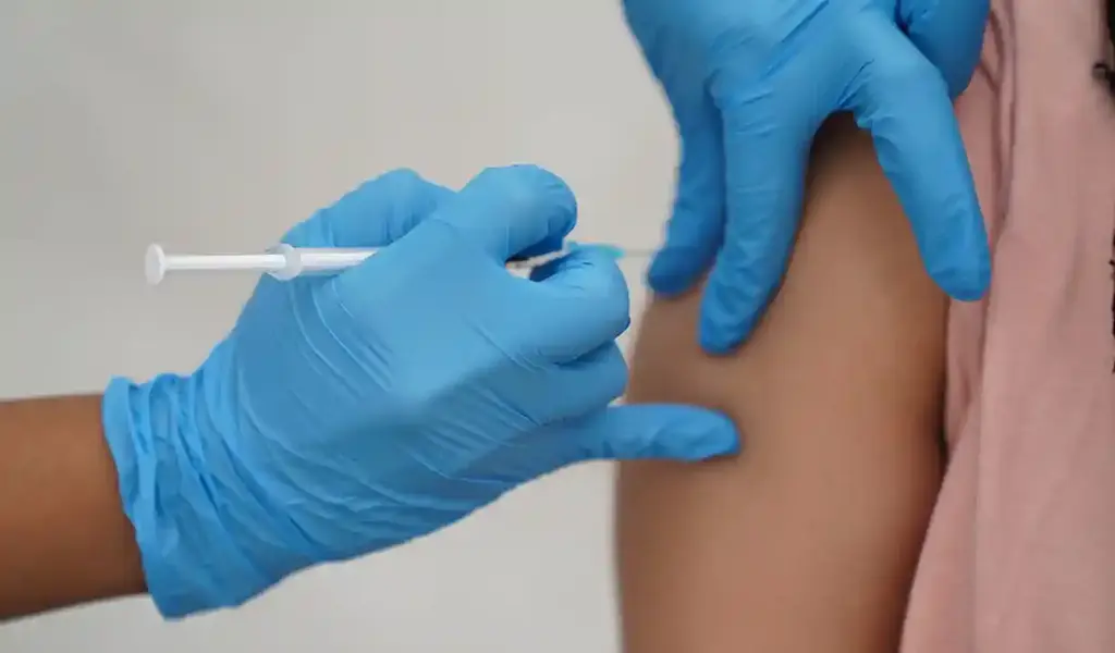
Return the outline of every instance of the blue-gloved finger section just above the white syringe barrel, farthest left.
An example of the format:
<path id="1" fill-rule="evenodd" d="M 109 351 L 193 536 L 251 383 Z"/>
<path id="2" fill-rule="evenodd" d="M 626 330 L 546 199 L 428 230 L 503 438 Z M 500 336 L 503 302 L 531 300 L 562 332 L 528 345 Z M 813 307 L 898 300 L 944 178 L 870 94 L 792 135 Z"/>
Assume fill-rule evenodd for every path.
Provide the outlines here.
<path id="1" fill-rule="evenodd" d="M 299 223 L 283 242 L 295 247 L 382 247 L 401 238 L 452 196 L 453 191 L 414 170 L 392 170 Z"/>

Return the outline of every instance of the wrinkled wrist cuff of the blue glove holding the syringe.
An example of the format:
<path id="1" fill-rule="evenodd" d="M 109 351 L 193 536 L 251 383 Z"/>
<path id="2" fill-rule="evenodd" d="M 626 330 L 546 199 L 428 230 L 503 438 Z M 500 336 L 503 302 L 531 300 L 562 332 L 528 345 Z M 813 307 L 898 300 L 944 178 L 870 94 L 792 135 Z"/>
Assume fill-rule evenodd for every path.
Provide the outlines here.
<path id="1" fill-rule="evenodd" d="M 240 605 L 289 573 L 259 568 L 232 536 L 223 483 L 204 467 L 221 451 L 198 437 L 191 383 L 171 374 L 146 383 L 117 378 L 101 406 L 147 589 L 167 618 Z"/>

